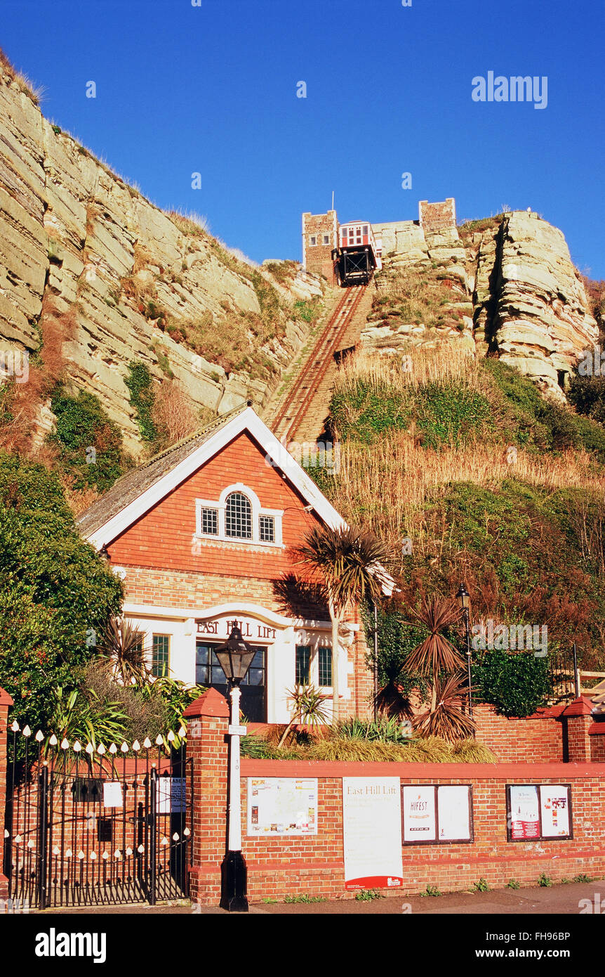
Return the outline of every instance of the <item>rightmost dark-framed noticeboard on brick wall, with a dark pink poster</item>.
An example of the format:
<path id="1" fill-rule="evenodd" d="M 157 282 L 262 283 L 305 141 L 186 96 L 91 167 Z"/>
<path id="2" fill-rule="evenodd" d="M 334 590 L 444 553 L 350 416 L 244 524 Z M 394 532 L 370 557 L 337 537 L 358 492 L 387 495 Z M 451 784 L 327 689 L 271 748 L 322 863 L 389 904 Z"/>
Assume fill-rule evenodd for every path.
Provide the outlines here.
<path id="1" fill-rule="evenodd" d="M 571 784 L 507 784 L 508 841 L 573 837 Z"/>

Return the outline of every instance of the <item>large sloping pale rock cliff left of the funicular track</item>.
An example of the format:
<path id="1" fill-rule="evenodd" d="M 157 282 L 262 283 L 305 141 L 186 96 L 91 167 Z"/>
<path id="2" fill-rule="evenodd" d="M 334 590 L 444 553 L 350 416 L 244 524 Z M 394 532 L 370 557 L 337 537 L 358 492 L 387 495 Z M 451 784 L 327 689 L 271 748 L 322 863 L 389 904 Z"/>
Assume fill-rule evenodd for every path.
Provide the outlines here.
<path id="1" fill-rule="evenodd" d="M 276 289 L 279 303 L 280 328 L 266 339 L 254 332 L 259 282 Z M 51 125 L 0 68 L 0 350 L 35 353 L 43 299 L 52 298 L 59 320 L 71 323 L 64 374 L 99 396 L 131 451 L 141 445 L 125 385 L 130 361 L 146 362 L 157 380 L 169 371 L 197 407 L 224 412 L 250 397 L 262 408 L 308 333 L 293 302 L 322 290 L 302 270 L 275 281 L 153 206 Z M 212 343 L 199 355 L 178 330 L 199 322 L 223 343 L 243 322 L 263 368 L 225 370 Z M 38 421 L 52 425 L 48 404 Z"/>

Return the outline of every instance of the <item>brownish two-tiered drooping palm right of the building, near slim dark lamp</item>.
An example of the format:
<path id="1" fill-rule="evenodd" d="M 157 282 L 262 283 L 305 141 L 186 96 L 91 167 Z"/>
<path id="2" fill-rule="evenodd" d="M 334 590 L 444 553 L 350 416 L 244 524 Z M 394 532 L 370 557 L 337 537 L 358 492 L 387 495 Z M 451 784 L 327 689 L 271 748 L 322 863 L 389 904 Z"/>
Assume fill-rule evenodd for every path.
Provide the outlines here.
<path id="1" fill-rule="evenodd" d="M 413 611 L 412 616 L 415 619 L 409 623 L 422 624 L 429 633 L 410 652 L 405 667 L 408 672 L 430 676 L 430 711 L 433 712 L 437 703 L 439 673 L 457 672 L 464 666 L 460 652 L 442 634 L 446 627 L 460 619 L 461 611 L 454 601 L 435 595 L 429 601 L 423 601 L 421 610 Z"/>

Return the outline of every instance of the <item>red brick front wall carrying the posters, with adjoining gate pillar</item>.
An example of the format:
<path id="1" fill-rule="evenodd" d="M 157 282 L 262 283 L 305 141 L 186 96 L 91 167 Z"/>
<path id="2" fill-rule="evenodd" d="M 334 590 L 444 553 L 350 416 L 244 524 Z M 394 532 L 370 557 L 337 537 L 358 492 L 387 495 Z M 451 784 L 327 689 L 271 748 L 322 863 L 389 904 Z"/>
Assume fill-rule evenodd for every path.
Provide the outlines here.
<path id="1" fill-rule="evenodd" d="M 207 694 L 210 695 L 210 694 Z M 189 739 L 194 761 L 196 805 L 191 887 L 192 899 L 216 904 L 224 854 L 226 809 L 226 702 L 213 694 L 187 710 L 199 724 L 197 740 Z M 210 714 L 209 714 L 210 712 Z M 605 873 L 605 765 L 594 763 L 310 763 L 242 759 L 243 852 L 252 901 L 287 895 L 351 898 L 344 889 L 343 777 L 399 777 L 402 785 L 471 784 L 474 840 L 469 844 L 406 845 L 403 891 L 417 893 L 427 885 L 442 891 L 468 888 L 480 877 L 491 887 L 508 879 L 537 882 L 544 872 L 554 881 Z M 248 777 L 316 777 L 318 833 L 297 837 L 246 836 Z M 509 842 L 506 838 L 507 784 L 571 784 L 574 837 L 568 840 Z M 199 808 L 199 814 L 198 814 Z M 398 889 L 397 892 L 401 892 Z"/>

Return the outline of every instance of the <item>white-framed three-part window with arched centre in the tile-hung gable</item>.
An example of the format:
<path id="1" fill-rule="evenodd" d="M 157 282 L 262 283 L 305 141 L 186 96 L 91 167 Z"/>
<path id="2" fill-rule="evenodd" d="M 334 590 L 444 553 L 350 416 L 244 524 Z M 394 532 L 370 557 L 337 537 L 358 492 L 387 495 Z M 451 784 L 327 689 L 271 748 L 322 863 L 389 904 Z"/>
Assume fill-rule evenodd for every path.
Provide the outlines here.
<path id="1" fill-rule="evenodd" d="M 281 546 L 282 516 L 282 509 L 264 508 L 252 488 L 238 483 L 224 488 L 218 501 L 196 499 L 195 535 Z"/>

